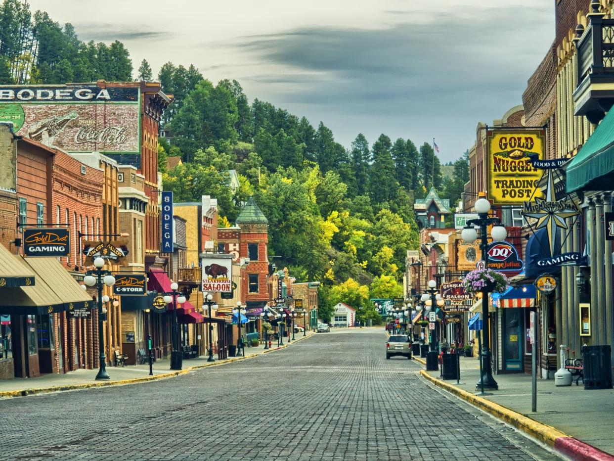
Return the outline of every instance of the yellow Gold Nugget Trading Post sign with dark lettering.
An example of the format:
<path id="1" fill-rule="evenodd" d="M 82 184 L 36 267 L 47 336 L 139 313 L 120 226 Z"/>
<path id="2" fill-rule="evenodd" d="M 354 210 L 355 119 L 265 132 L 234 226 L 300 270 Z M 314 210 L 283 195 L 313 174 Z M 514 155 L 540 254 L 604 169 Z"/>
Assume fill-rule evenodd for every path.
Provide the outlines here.
<path id="1" fill-rule="evenodd" d="M 544 158 L 544 130 L 488 130 L 488 196 L 493 205 L 522 205 L 542 197 L 542 170 L 530 156 Z"/>

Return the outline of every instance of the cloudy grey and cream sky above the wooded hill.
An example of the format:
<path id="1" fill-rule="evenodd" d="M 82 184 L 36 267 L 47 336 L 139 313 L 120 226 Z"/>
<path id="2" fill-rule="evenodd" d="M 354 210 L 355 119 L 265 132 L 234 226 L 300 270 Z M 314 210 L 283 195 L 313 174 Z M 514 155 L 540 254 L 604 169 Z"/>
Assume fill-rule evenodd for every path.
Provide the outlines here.
<path id="1" fill-rule="evenodd" d="M 194 64 L 236 79 L 346 147 L 432 143 L 442 162 L 522 103 L 554 39 L 552 0 L 29 0 L 85 41 L 122 41 L 135 69 Z"/>

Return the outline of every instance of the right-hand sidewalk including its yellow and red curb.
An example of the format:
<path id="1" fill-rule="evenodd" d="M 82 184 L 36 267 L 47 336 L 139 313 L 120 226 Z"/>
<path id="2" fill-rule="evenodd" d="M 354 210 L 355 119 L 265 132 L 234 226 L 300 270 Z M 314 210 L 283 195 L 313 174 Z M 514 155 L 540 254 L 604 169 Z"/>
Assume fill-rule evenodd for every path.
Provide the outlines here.
<path id="1" fill-rule="evenodd" d="M 416 360 L 422 363 L 421 359 Z M 439 387 L 542 439 L 574 459 L 614 459 L 606 454 L 614 454 L 614 390 L 585 390 L 583 385 L 575 384 L 556 387 L 553 379 L 538 379 L 537 412 L 534 413 L 531 411 L 529 374 L 495 375 L 499 390 L 486 391 L 492 395 L 474 396 L 479 392 L 475 387 L 480 379 L 477 358 L 461 357 L 460 385 L 456 384 L 456 379 L 441 380 L 440 372 L 441 365 L 440 371 L 421 373 Z M 561 449 L 557 446 L 561 444 L 567 447 Z M 606 453 L 592 452 L 593 447 Z"/>

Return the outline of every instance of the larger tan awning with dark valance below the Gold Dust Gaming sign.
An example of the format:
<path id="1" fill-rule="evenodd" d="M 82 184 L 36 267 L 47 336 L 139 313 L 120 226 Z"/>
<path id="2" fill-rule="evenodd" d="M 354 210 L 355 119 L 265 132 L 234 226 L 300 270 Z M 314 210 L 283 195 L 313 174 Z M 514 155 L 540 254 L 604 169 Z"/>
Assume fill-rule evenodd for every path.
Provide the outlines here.
<path id="1" fill-rule="evenodd" d="M 17 289 L 0 287 L 0 313 L 45 315 L 93 305 L 91 296 L 55 258 L 13 258 L 12 264 L 31 270 L 37 283 Z"/>

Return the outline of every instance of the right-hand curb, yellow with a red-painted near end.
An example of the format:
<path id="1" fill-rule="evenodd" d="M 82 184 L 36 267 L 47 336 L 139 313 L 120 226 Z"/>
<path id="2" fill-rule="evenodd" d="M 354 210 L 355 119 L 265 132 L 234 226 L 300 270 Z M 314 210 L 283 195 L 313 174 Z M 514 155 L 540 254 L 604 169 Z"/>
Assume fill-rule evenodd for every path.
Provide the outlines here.
<path id="1" fill-rule="evenodd" d="M 417 361 L 422 363 L 422 360 Z M 433 376 L 430 376 L 426 371 L 420 370 L 420 374 L 430 380 L 437 387 L 440 387 L 449 393 L 456 395 L 462 400 L 488 412 L 494 417 L 513 425 L 524 433 L 548 444 L 555 451 L 565 455 L 573 460 L 579 461 L 614 461 L 614 455 L 610 455 L 600 449 L 584 443 L 576 438 L 573 438 L 554 427 L 537 422 L 534 419 L 524 416 L 523 414 L 505 408 L 498 403 L 486 400 L 477 395 L 473 395 L 465 390 L 459 389 L 447 382 L 443 382 Z"/>

